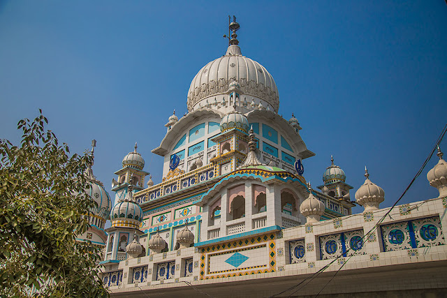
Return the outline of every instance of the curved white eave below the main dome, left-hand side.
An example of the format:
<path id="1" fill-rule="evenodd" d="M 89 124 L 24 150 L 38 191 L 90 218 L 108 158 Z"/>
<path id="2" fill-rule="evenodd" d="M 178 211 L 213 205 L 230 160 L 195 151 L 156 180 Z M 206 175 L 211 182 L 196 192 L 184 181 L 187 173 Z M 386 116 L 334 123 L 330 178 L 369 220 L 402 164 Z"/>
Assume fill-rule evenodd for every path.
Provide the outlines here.
<path id="1" fill-rule="evenodd" d="M 197 119 L 206 116 L 215 116 L 221 118 L 223 114 L 216 110 L 211 110 L 208 108 L 203 108 L 193 112 L 189 112 L 186 116 L 182 117 L 175 123 L 172 128 L 166 133 L 163 140 L 161 140 L 160 146 L 152 150 L 152 153 L 158 154 L 159 156 L 165 156 L 170 152 L 170 147 L 173 147 L 173 143 L 177 140 L 180 134 L 184 133 L 184 128 L 188 127 L 189 124 L 196 122 Z"/>

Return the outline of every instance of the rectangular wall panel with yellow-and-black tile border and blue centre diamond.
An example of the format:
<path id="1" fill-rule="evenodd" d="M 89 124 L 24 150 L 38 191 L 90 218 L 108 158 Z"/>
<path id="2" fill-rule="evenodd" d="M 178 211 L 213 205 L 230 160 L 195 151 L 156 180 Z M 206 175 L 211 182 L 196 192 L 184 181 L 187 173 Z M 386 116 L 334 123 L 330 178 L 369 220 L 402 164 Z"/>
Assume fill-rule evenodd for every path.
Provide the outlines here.
<path id="1" fill-rule="evenodd" d="M 277 255 L 275 244 L 276 235 L 276 232 L 272 234 L 263 234 L 255 237 L 237 239 L 234 241 L 228 241 L 221 244 L 213 244 L 211 246 L 200 248 L 200 280 L 274 272 L 276 270 Z M 212 255 L 234 253 L 233 255 L 239 256 L 240 258 L 236 260 L 230 260 L 231 258 L 228 258 L 226 261 L 228 261 L 228 264 L 238 267 L 247 260 L 242 260 L 244 259 L 243 257 L 247 258 L 246 256 L 244 256 L 243 251 L 262 247 L 268 248 L 269 261 L 267 268 L 265 267 L 265 265 L 260 265 L 249 268 L 235 268 L 224 271 L 210 272 L 209 260 L 210 256 Z M 230 251 L 228 251 L 228 249 L 230 249 Z M 232 261 L 233 264 L 231 264 Z"/>

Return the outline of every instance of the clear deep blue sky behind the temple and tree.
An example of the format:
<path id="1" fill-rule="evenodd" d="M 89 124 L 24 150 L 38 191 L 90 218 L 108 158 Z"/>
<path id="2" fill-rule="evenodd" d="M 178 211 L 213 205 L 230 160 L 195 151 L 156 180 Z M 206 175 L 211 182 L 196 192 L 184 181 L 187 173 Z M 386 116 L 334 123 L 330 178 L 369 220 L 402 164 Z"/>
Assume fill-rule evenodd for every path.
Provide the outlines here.
<path id="1" fill-rule="evenodd" d="M 225 53 L 228 15 L 242 54 L 273 75 L 279 114 L 295 113 L 316 154 L 305 178 L 320 185 L 333 154 L 352 199 L 367 165 L 381 206 L 393 204 L 447 121 L 444 0 L 0 0 L 0 137 L 17 143 L 17 121 L 41 108 L 73 153 L 97 140 L 94 174 L 110 195 L 135 142 L 161 182 L 151 150 L 173 109 L 186 112 L 194 75 Z M 437 196 L 425 177 L 435 163 L 402 202 Z"/>

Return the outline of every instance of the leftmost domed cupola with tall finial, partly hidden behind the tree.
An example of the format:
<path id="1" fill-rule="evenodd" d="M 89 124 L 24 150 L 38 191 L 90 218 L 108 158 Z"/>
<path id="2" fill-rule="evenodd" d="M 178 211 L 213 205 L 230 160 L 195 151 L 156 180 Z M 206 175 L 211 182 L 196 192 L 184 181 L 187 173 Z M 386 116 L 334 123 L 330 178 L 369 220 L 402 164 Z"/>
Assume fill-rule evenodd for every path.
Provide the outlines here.
<path id="1" fill-rule="evenodd" d="M 85 177 L 89 188 L 85 190 L 87 195 L 94 200 L 97 204 L 96 207 L 91 208 L 91 212 L 94 216 L 98 216 L 103 219 L 103 222 L 107 220 L 110 215 L 110 210 L 112 209 L 112 199 L 110 199 L 109 194 L 105 191 L 104 185 L 101 181 L 96 180 L 91 167 L 94 164 L 94 147 L 96 147 L 96 140 L 91 141 L 91 164 L 85 171 Z"/>

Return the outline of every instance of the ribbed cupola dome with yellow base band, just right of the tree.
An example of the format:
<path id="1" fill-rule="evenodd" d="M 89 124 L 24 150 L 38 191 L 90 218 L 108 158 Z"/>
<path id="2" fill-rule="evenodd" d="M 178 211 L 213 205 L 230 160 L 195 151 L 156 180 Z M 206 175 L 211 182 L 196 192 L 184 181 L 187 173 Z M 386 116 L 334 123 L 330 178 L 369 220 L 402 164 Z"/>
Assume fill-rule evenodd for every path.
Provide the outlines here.
<path id="1" fill-rule="evenodd" d="M 124 200 L 119 200 L 112 209 L 110 221 L 112 227 L 140 228 L 142 222 L 142 209 L 133 200 L 132 184 L 127 186 L 127 193 Z"/>

